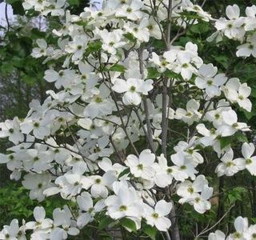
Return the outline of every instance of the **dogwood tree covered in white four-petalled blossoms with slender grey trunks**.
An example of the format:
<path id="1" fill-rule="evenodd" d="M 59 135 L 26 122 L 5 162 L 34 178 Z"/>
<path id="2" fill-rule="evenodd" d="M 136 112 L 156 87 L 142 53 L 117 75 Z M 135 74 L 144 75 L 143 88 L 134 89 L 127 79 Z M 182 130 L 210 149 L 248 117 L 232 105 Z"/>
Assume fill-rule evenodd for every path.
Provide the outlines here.
<path id="1" fill-rule="evenodd" d="M 238 57 L 255 57 L 256 6 L 242 17 L 237 5 L 227 6 L 218 19 L 190 0 L 107 0 L 79 14 L 65 0 L 25 0 L 23 7 L 58 21 L 55 42 L 39 38 L 31 53 L 50 66 L 44 79 L 53 90 L 42 104 L 30 103 L 26 118 L 0 123 L 0 138 L 13 143 L 0 162 L 31 199 L 58 195 L 66 205 L 52 218 L 37 206 L 34 221 L 14 219 L 0 239 L 66 239 L 94 229 L 180 239 L 178 207 L 211 209 L 206 148 L 218 162 L 216 178 L 256 174 L 254 143 L 243 143 L 239 158 L 231 145 L 250 131 L 237 114 L 252 109 L 250 86 L 204 62 L 193 42 L 177 44 L 191 26 L 208 22 L 216 29 L 208 41 L 235 40 Z M 256 238 L 246 216 L 228 236 L 210 233 L 217 225 L 195 238 Z"/>

